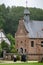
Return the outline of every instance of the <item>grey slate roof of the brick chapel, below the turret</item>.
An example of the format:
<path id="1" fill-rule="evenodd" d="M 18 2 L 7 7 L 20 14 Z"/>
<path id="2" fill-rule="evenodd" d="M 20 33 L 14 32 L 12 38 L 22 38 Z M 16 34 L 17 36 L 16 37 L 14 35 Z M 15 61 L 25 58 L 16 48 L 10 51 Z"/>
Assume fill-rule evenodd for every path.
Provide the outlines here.
<path id="1" fill-rule="evenodd" d="M 43 38 L 43 21 L 24 21 L 24 25 L 30 38 Z"/>

